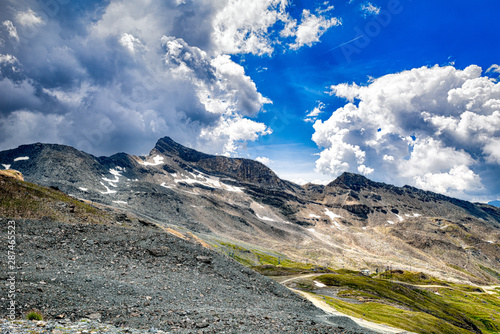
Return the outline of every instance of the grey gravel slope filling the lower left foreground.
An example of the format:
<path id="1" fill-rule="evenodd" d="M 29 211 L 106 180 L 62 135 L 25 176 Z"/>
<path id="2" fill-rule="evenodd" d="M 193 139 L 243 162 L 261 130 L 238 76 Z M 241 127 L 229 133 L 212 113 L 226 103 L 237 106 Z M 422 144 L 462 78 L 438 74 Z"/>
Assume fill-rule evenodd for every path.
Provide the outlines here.
<path id="1" fill-rule="evenodd" d="M 0 221 L 5 253 L 7 221 Z M 31 333 L 21 329 L 26 324 L 34 333 L 90 333 L 93 326 L 98 333 L 125 333 L 124 327 L 132 333 L 371 333 L 160 230 L 19 220 L 16 242 L 16 317 L 37 309 L 48 322 L 3 321 L 2 333 Z M 10 277 L 5 265 L 2 282 Z M 3 305 L 7 292 L 1 289 Z M 2 307 L 0 318 L 7 315 Z"/>

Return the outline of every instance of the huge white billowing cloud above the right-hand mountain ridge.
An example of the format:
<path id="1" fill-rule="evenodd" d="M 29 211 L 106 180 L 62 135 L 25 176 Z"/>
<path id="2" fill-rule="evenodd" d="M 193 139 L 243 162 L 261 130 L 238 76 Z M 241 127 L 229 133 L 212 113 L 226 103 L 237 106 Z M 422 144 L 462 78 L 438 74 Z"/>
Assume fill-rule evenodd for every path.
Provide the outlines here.
<path id="1" fill-rule="evenodd" d="M 330 89 L 349 102 L 314 124 L 324 148 L 317 171 L 469 199 L 499 189 L 491 175 L 500 172 L 500 84 L 480 67 L 415 68 Z"/>

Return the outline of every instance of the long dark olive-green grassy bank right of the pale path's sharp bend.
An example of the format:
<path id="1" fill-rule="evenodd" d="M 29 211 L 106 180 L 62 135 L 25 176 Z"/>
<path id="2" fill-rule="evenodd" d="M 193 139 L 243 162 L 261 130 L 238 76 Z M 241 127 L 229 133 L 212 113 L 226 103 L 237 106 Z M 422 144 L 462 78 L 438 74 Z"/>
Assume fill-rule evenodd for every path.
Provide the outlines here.
<path id="1" fill-rule="evenodd" d="M 425 318 L 434 317 L 443 323 L 462 328 L 465 331 L 480 333 L 478 324 L 464 315 L 462 310 L 454 308 L 446 299 L 424 289 L 388 280 L 349 274 L 322 275 L 316 280 L 328 286 L 348 287 L 351 290 L 369 293 L 378 296 L 386 303 L 400 305 L 413 312 L 421 313 Z M 353 305 L 352 308 L 360 307 L 364 310 L 362 305 Z M 454 333 L 454 331 L 440 331 L 439 333 Z"/>

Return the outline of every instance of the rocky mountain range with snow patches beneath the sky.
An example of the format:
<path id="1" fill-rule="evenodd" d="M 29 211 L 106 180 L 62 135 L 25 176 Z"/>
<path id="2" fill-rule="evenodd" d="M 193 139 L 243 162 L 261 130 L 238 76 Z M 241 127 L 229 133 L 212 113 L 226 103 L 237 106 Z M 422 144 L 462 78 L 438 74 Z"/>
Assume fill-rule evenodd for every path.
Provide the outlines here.
<path id="1" fill-rule="evenodd" d="M 321 266 L 500 282 L 500 208 L 487 204 L 352 173 L 300 186 L 257 161 L 201 153 L 169 137 L 147 156 L 22 145 L 0 152 L 0 165 L 236 251 L 253 265 L 261 263 L 258 250 Z"/>

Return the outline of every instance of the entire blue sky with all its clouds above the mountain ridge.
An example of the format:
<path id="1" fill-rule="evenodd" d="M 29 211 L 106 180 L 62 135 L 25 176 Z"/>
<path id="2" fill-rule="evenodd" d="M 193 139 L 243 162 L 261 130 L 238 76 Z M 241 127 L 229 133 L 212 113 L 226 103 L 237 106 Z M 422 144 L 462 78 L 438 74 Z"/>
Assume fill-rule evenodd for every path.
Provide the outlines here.
<path id="1" fill-rule="evenodd" d="M 500 199 L 498 1 L 0 4 L 0 149 L 170 136 L 281 177 Z"/>

